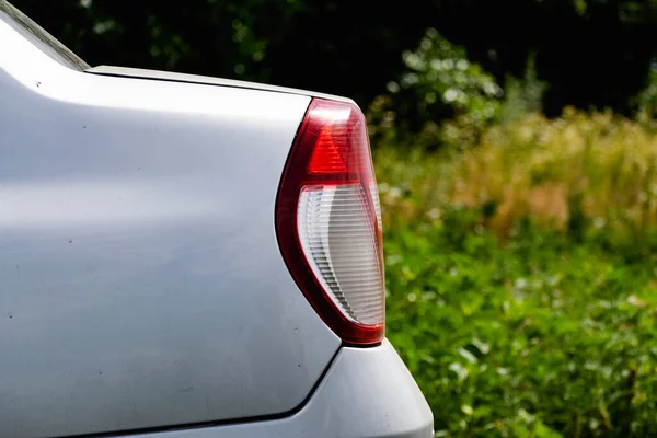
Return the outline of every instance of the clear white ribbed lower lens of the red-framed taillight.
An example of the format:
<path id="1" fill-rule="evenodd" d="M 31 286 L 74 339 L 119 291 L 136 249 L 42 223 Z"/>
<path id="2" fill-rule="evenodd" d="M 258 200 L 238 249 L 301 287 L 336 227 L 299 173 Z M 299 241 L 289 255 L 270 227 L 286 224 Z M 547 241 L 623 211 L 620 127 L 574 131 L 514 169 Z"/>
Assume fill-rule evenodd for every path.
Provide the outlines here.
<path id="1" fill-rule="evenodd" d="M 297 224 L 324 290 L 349 319 L 372 325 L 383 321 L 383 272 L 368 195 L 360 184 L 303 187 Z"/>

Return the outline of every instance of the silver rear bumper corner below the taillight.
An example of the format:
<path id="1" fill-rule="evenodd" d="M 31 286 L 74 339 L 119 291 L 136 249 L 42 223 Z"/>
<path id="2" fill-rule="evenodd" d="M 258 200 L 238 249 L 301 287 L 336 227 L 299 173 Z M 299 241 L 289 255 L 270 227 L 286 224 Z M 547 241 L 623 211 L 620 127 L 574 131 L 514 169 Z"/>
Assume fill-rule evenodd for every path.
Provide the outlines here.
<path id="1" fill-rule="evenodd" d="M 434 418 L 392 345 L 343 347 L 307 404 L 285 418 L 135 438 L 433 437 Z"/>

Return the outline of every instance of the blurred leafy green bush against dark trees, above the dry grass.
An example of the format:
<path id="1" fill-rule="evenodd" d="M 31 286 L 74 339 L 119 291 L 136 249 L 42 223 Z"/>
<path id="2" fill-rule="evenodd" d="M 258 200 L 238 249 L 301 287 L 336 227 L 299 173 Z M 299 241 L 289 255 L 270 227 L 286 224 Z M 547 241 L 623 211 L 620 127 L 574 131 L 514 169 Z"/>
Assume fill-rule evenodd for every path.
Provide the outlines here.
<path id="1" fill-rule="evenodd" d="M 403 54 L 403 60 L 404 73 L 389 82 L 389 93 L 368 108 L 377 143 L 463 150 L 477 143 L 492 124 L 542 110 L 548 84 L 537 77 L 534 54 L 527 59 L 523 78 L 507 76 L 504 91 L 492 74 L 468 59 L 463 47 L 434 28 L 426 31 L 415 51 Z"/>

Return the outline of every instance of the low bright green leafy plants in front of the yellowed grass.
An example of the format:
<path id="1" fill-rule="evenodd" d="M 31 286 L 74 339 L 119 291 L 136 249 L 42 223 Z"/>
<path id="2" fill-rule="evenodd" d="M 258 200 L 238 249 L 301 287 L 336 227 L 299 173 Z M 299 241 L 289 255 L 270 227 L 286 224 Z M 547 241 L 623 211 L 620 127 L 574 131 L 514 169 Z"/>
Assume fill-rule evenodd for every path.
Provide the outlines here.
<path id="1" fill-rule="evenodd" d="M 385 232 L 388 336 L 437 436 L 656 435 L 654 264 L 531 227 L 503 245 L 475 223 Z"/>

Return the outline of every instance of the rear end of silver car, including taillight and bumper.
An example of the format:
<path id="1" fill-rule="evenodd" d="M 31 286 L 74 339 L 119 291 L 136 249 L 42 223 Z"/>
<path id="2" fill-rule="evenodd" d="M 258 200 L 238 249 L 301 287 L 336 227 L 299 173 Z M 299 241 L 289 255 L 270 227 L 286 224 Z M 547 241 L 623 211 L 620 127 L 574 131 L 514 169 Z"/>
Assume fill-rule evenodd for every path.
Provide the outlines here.
<path id="1" fill-rule="evenodd" d="M 0 0 L 0 437 L 430 437 L 353 101 L 90 68 Z"/>

